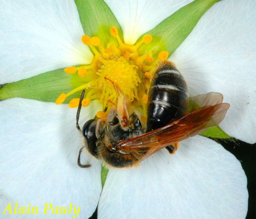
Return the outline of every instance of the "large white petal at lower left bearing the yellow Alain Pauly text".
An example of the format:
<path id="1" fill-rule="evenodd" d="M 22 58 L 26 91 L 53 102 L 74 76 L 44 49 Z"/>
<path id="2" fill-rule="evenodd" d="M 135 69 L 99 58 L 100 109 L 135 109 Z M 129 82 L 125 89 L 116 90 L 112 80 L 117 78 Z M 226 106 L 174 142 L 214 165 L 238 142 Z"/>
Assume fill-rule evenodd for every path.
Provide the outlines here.
<path id="1" fill-rule="evenodd" d="M 92 102 L 91 115 L 98 108 Z M 83 140 L 76 130 L 76 109 L 15 98 L 0 102 L 0 110 L 1 212 L 8 203 L 13 211 L 15 203 L 26 209 L 31 203 L 39 208 L 36 218 L 73 218 L 74 208 L 71 214 L 53 215 L 52 210 L 43 214 L 44 203 L 51 203 L 53 208 L 68 206 L 68 212 L 73 203 L 73 207 L 81 207 L 79 218 L 90 217 L 100 197 L 101 164 L 88 161 L 84 153 L 83 163 L 88 161 L 92 166 L 77 166 Z M 81 112 L 81 124 L 88 115 L 89 110 Z M 8 216 L 28 218 L 27 214 Z"/>

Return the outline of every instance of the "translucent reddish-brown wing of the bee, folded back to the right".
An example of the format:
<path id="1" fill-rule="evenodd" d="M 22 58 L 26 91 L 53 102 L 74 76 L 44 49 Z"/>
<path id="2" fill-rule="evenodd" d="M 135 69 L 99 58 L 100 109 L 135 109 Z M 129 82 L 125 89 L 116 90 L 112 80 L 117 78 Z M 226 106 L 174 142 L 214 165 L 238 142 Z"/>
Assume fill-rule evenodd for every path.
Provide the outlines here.
<path id="1" fill-rule="evenodd" d="M 215 94 L 217 95 L 218 93 Z M 205 101 L 207 106 L 201 106 L 200 108 L 200 105 L 196 104 L 194 111 L 192 110 L 191 113 L 162 128 L 120 142 L 116 145 L 116 150 L 125 153 L 137 153 L 140 160 L 143 160 L 166 146 L 200 134 L 207 128 L 218 125 L 224 119 L 229 104 L 219 103 L 220 101 L 216 102 L 215 100 L 210 101 L 209 95 L 216 98 L 213 93 L 205 94 L 204 98 L 208 99 L 208 101 Z M 220 95 L 217 95 L 217 97 L 220 98 Z M 197 98 L 195 97 L 195 99 Z M 217 104 L 209 106 L 212 102 Z"/>

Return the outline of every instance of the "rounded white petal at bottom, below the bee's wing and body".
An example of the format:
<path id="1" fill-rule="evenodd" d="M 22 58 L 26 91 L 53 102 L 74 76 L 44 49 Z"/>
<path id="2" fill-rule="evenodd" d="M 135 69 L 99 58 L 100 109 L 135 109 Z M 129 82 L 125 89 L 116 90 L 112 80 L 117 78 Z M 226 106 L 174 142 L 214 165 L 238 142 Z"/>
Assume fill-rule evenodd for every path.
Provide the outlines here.
<path id="1" fill-rule="evenodd" d="M 98 218 L 245 218 L 247 179 L 220 144 L 195 136 L 138 169 L 109 170 Z"/>

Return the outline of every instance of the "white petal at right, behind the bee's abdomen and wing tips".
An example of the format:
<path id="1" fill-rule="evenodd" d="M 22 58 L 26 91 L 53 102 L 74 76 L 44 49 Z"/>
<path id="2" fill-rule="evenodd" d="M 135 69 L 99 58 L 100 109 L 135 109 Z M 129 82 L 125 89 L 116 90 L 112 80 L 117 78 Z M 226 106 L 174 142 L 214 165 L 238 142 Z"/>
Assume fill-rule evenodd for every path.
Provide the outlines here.
<path id="1" fill-rule="evenodd" d="M 220 92 L 230 108 L 228 135 L 256 142 L 256 1 L 220 1 L 170 57 L 191 95 Z"/>

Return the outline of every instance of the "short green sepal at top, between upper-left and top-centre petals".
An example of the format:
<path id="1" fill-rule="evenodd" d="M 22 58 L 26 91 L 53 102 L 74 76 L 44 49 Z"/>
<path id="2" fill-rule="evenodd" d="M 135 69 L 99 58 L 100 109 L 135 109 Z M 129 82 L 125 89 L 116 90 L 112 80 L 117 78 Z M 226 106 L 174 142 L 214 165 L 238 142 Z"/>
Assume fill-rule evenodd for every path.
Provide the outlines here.
<path id="1" fill-rule="evenodd" d="M 110 27 L 116 26 L 123 39 L 122 28 L 103 0 L 75 0 L 75 3 L 85 35 L 99 37 L 105 47 L 108 42 L 118 45 L 116 38 L 110 35 Z"/>

